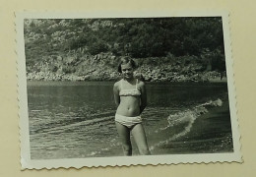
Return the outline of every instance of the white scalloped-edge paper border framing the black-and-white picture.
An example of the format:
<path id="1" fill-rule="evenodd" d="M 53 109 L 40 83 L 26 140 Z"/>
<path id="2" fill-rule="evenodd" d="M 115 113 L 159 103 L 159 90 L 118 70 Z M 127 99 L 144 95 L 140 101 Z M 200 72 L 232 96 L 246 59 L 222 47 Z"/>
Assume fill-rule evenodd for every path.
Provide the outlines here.
<path id="1" fill-rule="evenodd" d="M 178 163 L 210 163 L 210 162 L 242 162 L 240 153 L 240 135 L 236 116 L 236 98 L 233 78 L 233 61 L 231 57 L 231 40 L 229 33 L 228 13 L 224 11 L 172 11 L 172 12 L 17 12 L 17 67 L 18 67 L 18 99 L 20 117 L 20 146 L 22 169 L 41 169 L 58 167 L 81 168 L 98 166 L 129 166 L 129 165 L 158 165 Z M 155 17 L 222 17 L 224 31 L 224 55 L 226 65 L 227 89 L 232 128 L 233 152 L 224 153 L 197 153 L 197 154 L 164 154 L 146 156 L 114 156 L 114 157 L 88 157 L 66 159 L 31 159 L 29 113 L 27 95 L 26 57 L 24 41 L 24 19 L 90 19 L 90 18 L 155 18 Z"/>

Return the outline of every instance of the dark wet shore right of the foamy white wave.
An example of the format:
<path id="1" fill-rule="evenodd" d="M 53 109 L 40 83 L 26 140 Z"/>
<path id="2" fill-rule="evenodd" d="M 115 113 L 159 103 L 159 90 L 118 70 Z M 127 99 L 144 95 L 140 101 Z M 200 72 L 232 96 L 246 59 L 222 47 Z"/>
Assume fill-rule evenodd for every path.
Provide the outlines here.
<path id="1" fill-rule="evenodd" d="M 208 113 L 195 120 L 188 134 L 163 148 L 175 154 L 233 151 L 228 102 L 224 100 L 222 107 L 212 107 L 208 110 Z"/>

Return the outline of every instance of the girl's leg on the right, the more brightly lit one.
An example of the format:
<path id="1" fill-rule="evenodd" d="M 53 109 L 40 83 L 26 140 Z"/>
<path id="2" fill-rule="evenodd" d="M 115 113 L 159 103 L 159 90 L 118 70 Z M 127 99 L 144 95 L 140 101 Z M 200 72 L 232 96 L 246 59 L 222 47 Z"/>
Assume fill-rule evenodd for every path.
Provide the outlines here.
<path id="1" fill-rule="evenodd" d="M 151 154 L 150 149 L 148 147 L 146 134 L 142 124 L 137 124 L 132 129 L 132 135 L 135 143 L 137 144 L 139 151 L 143 155 Z"/>

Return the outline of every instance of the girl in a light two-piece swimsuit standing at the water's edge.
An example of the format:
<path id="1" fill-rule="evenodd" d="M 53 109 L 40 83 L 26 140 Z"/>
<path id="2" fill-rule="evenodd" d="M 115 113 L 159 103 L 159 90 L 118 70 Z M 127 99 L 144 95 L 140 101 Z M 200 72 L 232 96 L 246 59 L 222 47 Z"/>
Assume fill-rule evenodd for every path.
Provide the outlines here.
<path id="1" fill-rule="evenodd" d="M 145 84 L 135 79 L 133 72 L 136 65 L 130 58 L 122 58 L 118 72 L 123 79 L 113 87 L 114 100 L 117 107 L 115 125 L 120 136 L 125 155 L 132 155 L 130 134 L 133 135 L 140 154 L 150 154 L 141 113 L 147 105 Z"/>

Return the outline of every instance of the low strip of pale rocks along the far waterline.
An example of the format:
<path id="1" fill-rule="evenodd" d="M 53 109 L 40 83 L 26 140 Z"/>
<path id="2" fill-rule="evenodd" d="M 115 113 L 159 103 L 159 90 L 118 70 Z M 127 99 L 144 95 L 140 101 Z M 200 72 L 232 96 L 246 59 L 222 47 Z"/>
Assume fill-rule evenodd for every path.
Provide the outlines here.
<path id="1" fill-rule="evenodd" d="M 220 71 L 197 71 L 192 69 L 176 69 L 173 66 L 164 68 L 141 67 L 134 72 L 134 77 L 145 82 L 156 83 L 223 83 L 226 82 L 226 75 Z M 185 71 L 183 71 L 185 70 Z M 119 81 L 121 79 L 120 73 L 113 69 L 92 69 L 90 73 L 75 72 L 63 73 L 63 71 L 52 72 L 49 69 L 45 71 L 32 71 L 27 73 L 27 79 L 32 81 Z M 222 79 L 222 80 L 221 80 Z"/>

